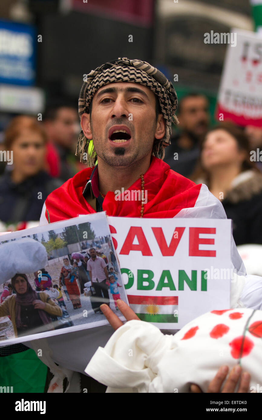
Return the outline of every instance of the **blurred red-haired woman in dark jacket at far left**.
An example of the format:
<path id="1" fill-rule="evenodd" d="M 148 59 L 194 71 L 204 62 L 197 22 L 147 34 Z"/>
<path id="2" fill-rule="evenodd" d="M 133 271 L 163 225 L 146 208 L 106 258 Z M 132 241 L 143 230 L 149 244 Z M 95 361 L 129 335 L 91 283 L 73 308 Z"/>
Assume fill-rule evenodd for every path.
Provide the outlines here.
<path id="1" fill-rule="evenodd" d="M 40 219 L 43 202 L 61 181 L 45 172 L 46 134 L 34 117 L 13 118 L 4 135 L 10 163 L 0 177 L 0 220 L 19 223 Z M 12 158 L 12 159 L 11 159 Z"/>

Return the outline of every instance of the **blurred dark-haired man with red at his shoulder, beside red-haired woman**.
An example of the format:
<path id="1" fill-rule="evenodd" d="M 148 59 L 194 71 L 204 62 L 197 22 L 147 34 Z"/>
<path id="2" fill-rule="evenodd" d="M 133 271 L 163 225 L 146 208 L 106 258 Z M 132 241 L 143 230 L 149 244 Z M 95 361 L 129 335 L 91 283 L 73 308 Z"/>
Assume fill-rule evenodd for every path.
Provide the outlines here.
<path id="1" fill-rule="evenodd" d="M 79 133 L 77 108 L 66 102 L 50 106 L 43 121 L 48 136 L 48 172 L 67 181 L 81 169 L 74 155 Z"/>

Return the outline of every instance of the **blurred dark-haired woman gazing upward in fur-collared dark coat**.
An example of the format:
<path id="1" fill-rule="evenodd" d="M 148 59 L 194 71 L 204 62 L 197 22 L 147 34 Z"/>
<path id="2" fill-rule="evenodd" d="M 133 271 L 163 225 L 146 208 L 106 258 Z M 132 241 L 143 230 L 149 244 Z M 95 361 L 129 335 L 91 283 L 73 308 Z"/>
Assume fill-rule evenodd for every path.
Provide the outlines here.
<path id="1" fill-rule="evenodd" d="M 250 160 L 242 129 L 225 122 L 207 133 L 193 181 L 220 199 L 233 220 L 236 245 L 262 244 L 262 174 Z"/>

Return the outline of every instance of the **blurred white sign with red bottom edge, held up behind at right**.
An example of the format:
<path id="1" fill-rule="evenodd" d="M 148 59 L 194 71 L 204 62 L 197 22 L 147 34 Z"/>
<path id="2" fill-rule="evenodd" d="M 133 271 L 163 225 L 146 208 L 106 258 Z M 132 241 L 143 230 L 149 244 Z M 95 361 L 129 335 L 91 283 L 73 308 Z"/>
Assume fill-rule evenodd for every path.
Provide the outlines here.
<path id="1" fill-rule="evenodd" d="M 236 45 L 228 44 L 218 93 L 216 117 L 246 126 L 262 126 L 262 38 L 232 29 Z"/>

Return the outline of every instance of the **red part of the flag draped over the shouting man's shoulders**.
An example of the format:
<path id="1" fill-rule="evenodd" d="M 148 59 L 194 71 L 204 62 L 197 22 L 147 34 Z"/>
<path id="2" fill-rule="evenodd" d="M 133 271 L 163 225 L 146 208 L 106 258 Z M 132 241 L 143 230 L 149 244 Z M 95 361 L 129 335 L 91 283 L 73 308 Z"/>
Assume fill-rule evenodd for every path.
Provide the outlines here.
<path id="1" fill-rule="evenodd" d="M 42 216 L 52 223 L 77 217 L 79 214 L 95 213 L 82 193 L 92 173 L 91 168 L 78 172 L 61 187 L 48 195 Z M 188 178 L 172 171 L 161 159 L 152 157 L 151 165 L 144 174 L 145 218 L 172 218 L 180 210 L 194 207 L 201 184 L 196 185 Z M 128 189 L 141 190 L 138 178 Z M 141 201 L 116 200 L 114 192 L 109 191 L 103 200 L 103 210 L 109 216 L 140 217 Z"/>

